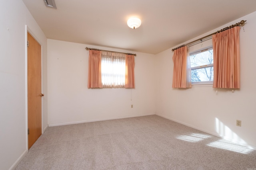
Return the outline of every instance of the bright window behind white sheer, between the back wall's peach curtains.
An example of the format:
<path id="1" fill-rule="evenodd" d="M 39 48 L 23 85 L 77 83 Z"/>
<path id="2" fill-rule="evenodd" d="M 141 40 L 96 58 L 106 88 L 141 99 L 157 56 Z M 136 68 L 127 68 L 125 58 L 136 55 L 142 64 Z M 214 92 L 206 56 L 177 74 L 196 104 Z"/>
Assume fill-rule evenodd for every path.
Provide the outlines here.
<path id="1" fill-rule="evenodd" d="M 102 51 L 101 79 L 103 88 L 124 88 L 125 55 Z"/>

